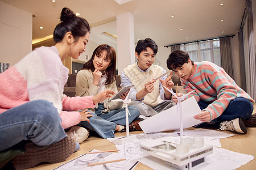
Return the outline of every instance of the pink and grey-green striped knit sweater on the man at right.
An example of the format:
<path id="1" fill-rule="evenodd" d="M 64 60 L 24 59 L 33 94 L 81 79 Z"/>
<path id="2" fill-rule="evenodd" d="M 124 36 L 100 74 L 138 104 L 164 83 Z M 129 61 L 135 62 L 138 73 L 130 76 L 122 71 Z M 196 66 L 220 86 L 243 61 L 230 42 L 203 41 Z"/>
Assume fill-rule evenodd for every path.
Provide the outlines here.
<path id="1" fill-rule="evenodd" d="M 245 97 L 255 103 L 224 69 L 212 62 L 195 62 L 193 74 L 187 80 L 181 79 L 181 84 L 187 93 L 195 90 L 187 98 L 194 96 L 197 102 L 211 103 L 204 109 L 210 112 L 210 121 L 219 117 L 236 97 Z"/>

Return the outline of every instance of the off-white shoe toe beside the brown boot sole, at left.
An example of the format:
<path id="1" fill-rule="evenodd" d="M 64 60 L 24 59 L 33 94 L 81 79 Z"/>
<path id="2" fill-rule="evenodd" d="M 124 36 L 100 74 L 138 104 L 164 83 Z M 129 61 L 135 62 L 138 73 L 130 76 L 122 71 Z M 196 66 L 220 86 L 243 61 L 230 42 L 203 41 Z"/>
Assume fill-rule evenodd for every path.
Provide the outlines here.
<path id="1" fill-rule="evenodd" d="M 73 137 L 79 143 L 84 142 L 89 136 L 88 130 L 80 126 L 73 126 L 66 134 Z"/>

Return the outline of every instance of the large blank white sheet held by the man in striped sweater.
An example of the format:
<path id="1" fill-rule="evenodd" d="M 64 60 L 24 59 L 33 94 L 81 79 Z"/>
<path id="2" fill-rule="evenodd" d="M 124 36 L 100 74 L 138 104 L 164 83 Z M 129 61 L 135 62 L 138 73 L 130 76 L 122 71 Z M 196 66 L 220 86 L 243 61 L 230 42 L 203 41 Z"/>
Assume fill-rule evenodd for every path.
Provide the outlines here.
<path id="1" fill-rule="evenodd" d="M 196 114 L 201 113 L 201 109 L 194 97 L 181 102 L 183 113 L 183 128 L 190 128 L 194 125 L 200 124 L 200 120 L 193 118 Z M 139 126 L 144 133 L 152 133 L 158 131 L 170 131 L 180 128 L 179 114 L 176 113 L 176 107 L 171 107 L 166 111 L 160 112 L 146 120 L 139 122 Z"/>

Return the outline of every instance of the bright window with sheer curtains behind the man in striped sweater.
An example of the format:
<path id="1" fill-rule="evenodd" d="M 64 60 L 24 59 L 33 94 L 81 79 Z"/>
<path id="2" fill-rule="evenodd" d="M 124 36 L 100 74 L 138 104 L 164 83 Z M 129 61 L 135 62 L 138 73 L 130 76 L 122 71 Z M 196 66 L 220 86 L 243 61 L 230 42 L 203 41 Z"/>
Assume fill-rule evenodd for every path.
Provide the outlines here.
<path id="1" fill-rule="evenodd" d="M 192 61 L 210 61 L 221 66 L 220 39 L 183 44 L 180 50 L 187 52 Z"/>

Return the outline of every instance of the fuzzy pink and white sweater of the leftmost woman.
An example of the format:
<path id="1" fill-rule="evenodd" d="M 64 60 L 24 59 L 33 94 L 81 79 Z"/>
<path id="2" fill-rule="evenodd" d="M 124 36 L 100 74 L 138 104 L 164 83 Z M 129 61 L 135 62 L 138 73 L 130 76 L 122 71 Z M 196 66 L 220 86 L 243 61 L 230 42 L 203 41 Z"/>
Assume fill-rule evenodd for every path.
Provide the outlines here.
<path id="1" fill-rule="evenodd" d="M 28 101 L 43 99 L 57 108 L 64 129 L 79 124 L 81 116 L 76 111 L 95 105 L 92 96 L 63 95 L 68 72 L 55 46 L 35 49 L 0 74 L 0 113 Z"/>

